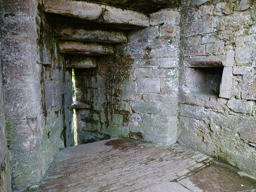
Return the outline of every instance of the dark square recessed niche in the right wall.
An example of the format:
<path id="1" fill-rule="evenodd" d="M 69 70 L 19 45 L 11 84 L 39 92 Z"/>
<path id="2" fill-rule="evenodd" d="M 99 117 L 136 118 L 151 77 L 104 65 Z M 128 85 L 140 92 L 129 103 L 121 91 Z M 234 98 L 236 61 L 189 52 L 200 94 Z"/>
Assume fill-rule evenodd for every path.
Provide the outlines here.
<path id="1" fill-rule="evenodd" d="M 220 93 L 220 82 L 223 68 L 192 67 L 190 68 L 191 93 Z"/>

